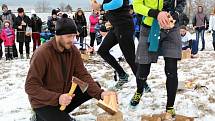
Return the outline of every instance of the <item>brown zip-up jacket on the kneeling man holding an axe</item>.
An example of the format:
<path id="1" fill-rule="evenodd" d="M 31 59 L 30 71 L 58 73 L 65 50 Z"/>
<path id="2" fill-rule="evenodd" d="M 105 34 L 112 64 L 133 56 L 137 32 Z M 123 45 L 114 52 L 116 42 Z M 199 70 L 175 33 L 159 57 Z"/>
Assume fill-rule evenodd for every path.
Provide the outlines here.
<path id="1" fill-rule="evenodd" d="M 62 74 L 62 61 L 66 65 L 67 77 Z M 38 48 L 31 59 L 30 69 L 25 83 L 32 108 L 47 105 L 58 106 L 59 96 L 68 93 L 71 87 L 72 76 L 89 84 L 87 93 L 96 99 L 101 98 L 103 90 L 93 81 L 83 65 L 79 50 L 72 45 L 69 50 L 60 52 L 56 40 L 47 42 Z"/>

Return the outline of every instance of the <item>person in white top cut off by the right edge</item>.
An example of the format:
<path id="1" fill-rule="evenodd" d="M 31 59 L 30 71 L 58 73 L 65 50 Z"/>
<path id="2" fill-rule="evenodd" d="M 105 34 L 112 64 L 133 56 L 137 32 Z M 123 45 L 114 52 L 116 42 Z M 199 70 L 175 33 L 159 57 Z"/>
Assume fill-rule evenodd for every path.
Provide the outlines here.
<path id="1" fill-rule="evenodd" d="M 215 7 L 213 10 L 213 13 L 210 16 L 209 20 L 209 31 L 213 31 L 212 36 L 213 36 L 213 47 L 215 51 Z"/>

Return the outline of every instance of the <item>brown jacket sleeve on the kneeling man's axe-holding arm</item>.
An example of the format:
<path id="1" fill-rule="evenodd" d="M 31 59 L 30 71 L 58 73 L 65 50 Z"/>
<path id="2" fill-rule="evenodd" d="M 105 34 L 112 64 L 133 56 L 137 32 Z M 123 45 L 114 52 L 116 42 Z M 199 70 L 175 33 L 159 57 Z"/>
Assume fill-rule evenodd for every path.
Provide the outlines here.
<path id="1" fill-rule="evenodd" d="M 36 101 L 36 104 L 57 106 L 59 104 L 58 98 L 61 94 L 49 91 L 43 87 L 44 82 L 42 79 L 46 73 L 47 64 L 48 60 L 45 53 L 36 50 L 30 62 L 25 91 L 31 103 L 35 103 L 34 101 Z"/>

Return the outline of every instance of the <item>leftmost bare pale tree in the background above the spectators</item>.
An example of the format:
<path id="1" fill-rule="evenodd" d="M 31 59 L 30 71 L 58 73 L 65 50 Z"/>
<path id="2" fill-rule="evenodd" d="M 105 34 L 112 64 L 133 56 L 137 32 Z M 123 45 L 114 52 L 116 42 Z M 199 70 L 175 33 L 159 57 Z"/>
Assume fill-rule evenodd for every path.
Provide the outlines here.
<path id="1" fill-rule="evenodd" d="M 47 12 L 50 10 L 49 2 L 47 2 L 46 0 L 38 1 L 35 9 L 38 12 Z"/>

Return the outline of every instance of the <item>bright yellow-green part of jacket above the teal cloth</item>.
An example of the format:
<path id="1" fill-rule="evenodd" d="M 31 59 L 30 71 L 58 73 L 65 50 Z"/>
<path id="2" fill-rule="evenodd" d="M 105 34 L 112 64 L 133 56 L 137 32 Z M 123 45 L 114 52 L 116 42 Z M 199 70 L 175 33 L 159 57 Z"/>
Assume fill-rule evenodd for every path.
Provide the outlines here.
<path id="1" fill-rule="evenodd" d="M 161 11 L 163 9 L 163 0 L 134 0 L 133 1 L 133 8 L 135 13 L 141 14 L 145 16 L 143 23 L 151 26 L 153 22 L 153 17 L 148 16 L 148 12 L 150 9 L 159 10 Z"/>

